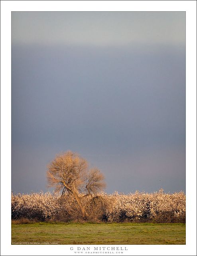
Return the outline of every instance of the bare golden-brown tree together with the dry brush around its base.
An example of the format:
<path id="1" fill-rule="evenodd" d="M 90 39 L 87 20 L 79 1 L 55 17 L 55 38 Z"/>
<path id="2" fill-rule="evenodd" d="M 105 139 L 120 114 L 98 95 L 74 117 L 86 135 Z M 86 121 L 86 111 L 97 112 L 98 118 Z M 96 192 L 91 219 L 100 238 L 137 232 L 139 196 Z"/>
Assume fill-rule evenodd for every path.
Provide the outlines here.
<path id="1" fill-rule="evenodd" d="M 61 192 L 62 202 L 69 200 L 65 214 L 85 220 L 98 216 L 103 201 L 97 192 L 105 188 L 104 176 L 97 168 L 89 169 L 79 154 L 67 151 L 57 155 L 48 166 L 47 179 L 49 186 Z"/>

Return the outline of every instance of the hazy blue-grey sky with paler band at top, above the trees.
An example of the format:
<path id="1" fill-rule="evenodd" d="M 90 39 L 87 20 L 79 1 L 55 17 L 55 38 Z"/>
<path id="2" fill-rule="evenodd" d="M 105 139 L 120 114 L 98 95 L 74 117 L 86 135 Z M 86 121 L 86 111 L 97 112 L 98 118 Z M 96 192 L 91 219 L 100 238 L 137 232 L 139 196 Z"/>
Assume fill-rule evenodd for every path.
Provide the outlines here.
<path id="1" fill-rule="evenodd" d="M 185 191 L 185 12 L 12 12 L 12 190 L 67 150 L 108 193 Z"/>

